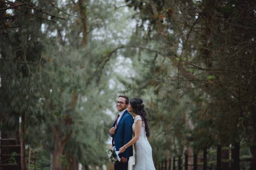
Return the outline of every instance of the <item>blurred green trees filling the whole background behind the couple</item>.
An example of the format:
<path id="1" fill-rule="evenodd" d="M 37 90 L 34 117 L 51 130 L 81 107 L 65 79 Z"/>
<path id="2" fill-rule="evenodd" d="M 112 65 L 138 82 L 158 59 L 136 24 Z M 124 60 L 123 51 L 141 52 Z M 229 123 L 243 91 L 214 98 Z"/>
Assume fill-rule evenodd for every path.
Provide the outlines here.
<path id="1" fill-rule="evenodd" d="M 156 164 L 256 142 L 255 11 L 253 0 L 1 0 L 1 137 L 21 145 L 24 170 L 27 148 L 41 169 L 101 166 L 128 94 L 144 100 Z"/>

